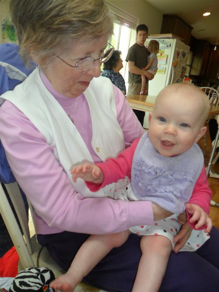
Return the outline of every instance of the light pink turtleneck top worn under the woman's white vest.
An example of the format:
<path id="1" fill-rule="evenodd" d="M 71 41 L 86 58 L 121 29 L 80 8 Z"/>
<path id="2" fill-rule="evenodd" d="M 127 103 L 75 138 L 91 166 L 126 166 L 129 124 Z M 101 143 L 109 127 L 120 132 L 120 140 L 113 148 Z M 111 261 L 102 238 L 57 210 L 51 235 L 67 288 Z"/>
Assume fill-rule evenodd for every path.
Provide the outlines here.
<path id="1" fill-rule="evenodd" d="M 51 86 L 41 72 L 46 88 L 69 114 L 75 103 Z M 124 133 L 126 148 L 144 133 L 123 93 L 114 86 L 117 118 Z M 12 103 L 0 107 L 1 142 L 16 180 L 34 206 L 38 234 L 81 232 L 108 234 L 131 226 L 152 224 L 151 202 L 115 201 L 108 198 L 86 198 L 74 192 L 66 173 L 53 155 L 42 133 Z M 91 147 L 92 125 L 88 103 L 82 94 L 72 110 L 76 127 L 95 163 L 100 162 Z M 112 143 L 112 141 L 109 141 Z M 72 164 L 77 161 L 72 161 Z"/>

